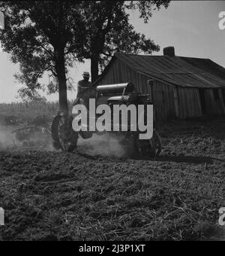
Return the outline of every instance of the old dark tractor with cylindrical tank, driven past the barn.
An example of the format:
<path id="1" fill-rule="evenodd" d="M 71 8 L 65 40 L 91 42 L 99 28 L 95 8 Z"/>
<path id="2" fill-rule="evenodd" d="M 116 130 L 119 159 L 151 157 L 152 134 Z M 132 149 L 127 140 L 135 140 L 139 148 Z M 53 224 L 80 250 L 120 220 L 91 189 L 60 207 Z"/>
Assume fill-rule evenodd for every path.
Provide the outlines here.
<path id="1" fill-rule="evenodd" d="M 107 84 L 100 85 L 95 89 L 95 99 L 96 99 L 96 107 L 101 104 L 106 104 L 110 106 L 112 109 L 113 116 L 113 105 L 153 105 L 153 82 L 148 81 L 151 86 L 151 94 L 142 94 L 138 93 L 132 83 L 124 83 L 124 84 Z M 76 101 L 76 104 L 82 104 L 82 101 Z M 146 109 L 146 108 L 144 108 Z M 73 152 L 77 149 L 77 141 L 78 139 L 90 139 L 93 134 L 96 133 L 99 136 L 104 133 L 109 133 L 106 131 L 77 131 L 73 130 L 73 120 L 77 118 L 79 113 L 76 114 L 63 114 L 59 113 L 52 122 L 52 141 L 53 146 L 62 151 Z M 95 115 L 95 122 L 98 119 L 98 114 Z M 113 118 L 111 119 L 111 125 L 113 127 Z M 121 117 L 119 117 L 121 121 Z M 129 123 L 130 118 L 128 118 L 128 129 L 127 131 L 110 131 L 113 133 L 113 136 L 119 136 L 120 144 L 127 152 L 129 157 L 145 157 L 145 158 L 155 158 L 158 157 L 161 149 L 162 142 L 160 139 L 157 130 L 154 128 L 153 136 L 151 139 L 139 139 L 139 134 L 142 133 L 139 130 L 133 131 L 130 129 Z M 118 123 L 118 126 L 121 128 L 121 122 Z"/>

